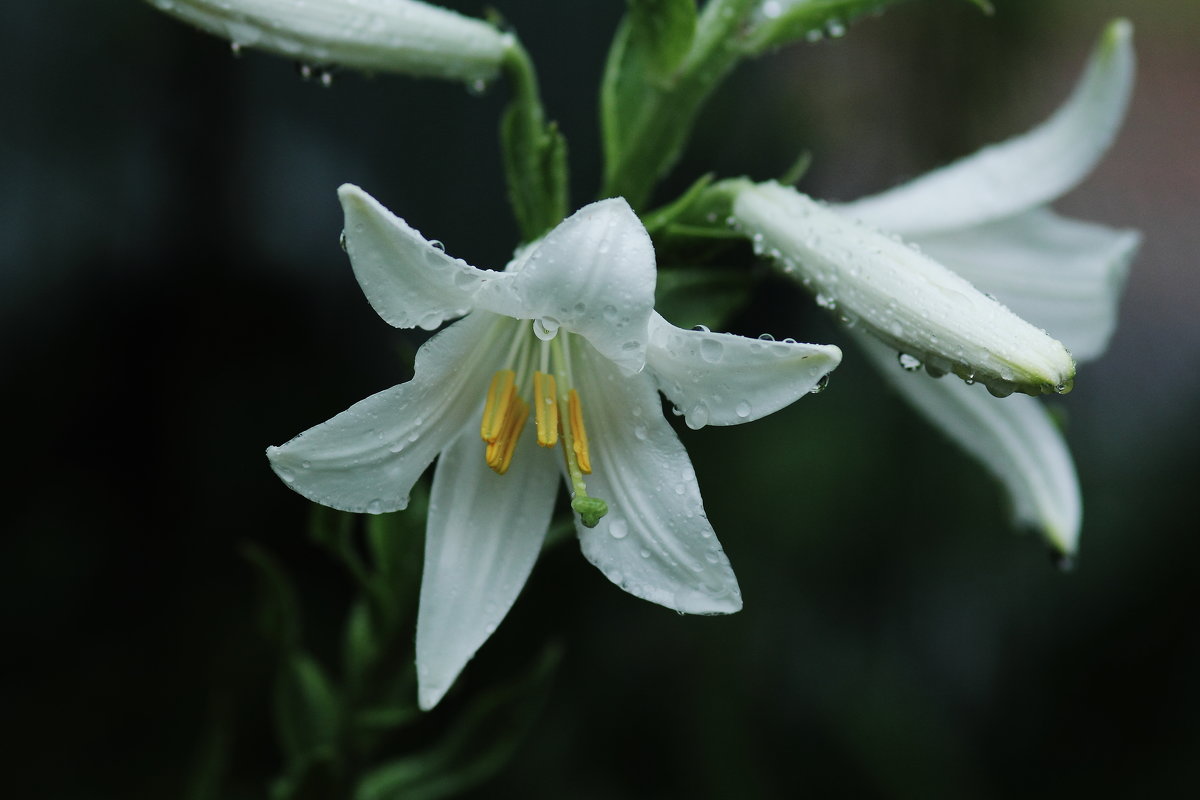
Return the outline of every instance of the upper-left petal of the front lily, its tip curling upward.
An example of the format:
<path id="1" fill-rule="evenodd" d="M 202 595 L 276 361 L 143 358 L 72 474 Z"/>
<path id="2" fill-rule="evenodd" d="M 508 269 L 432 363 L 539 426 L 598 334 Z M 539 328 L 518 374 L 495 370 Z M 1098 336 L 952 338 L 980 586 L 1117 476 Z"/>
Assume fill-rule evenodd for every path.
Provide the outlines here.
<path id="1" fill-rule="evenodd" d="M 337 197 L 354 276 L 389 325 L 432 331 L 470 311 L 479 287 L 500 275 L 446 255 L 358 186 L 342 185 Z"/>

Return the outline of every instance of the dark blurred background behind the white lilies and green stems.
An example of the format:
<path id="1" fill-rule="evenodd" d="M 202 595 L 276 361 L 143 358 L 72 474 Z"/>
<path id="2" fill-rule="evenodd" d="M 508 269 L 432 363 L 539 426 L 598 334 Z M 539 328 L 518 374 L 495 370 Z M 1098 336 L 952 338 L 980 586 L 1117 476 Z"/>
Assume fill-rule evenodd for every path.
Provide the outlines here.
<path id="1" fill-rule="evenodd" d="M 540 67 L 581 205 L 624 4 L 496 5 Z M 1076 570 L 1014 535 L 998 487 L 847 348 L 820 397 L 680 432 L 740 614 L 677 616 L 571 543 L 546 553 L 461 681 L 469 694 L 563 646 L 542 714 L 478 796 L 1195 783 L 1200 5 L 996 6 L 913 2 L 745 65 L 659 199 L 709 169 L 780 174 L 804 149 L 812 194 L 884 188 L 1044 119 L 1103 25 L 1130 17 L 1129 120 L 1058 205 L 1145 234 L 1109 354 L 1056 401 L 1085 493 Z M 356 182 L 454 254 L 503 265 L 504 86 L 344 72 L 323 88 L 132 0 L 4 4 L 0 38 L 6 794 L 181 796 L 221 717 L 227 796 L 256 796 L 278 765 L 272 663 L 239 547 L 295 576 L 318 654 L 350 591 L 263 450 L 397 383 L 414 344 L 364 301 L 335 190 Z M 767 288 L 733 330 L 841 341 L 799 291 Z"/>

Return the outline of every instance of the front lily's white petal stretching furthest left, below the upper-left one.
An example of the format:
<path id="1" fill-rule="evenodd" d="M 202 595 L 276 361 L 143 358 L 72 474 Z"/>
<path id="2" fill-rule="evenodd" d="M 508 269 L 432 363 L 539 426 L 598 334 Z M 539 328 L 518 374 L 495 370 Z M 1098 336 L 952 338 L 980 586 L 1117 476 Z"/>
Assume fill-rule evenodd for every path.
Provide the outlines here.
<path id="1" fill-rule="evenodd" d="M 472 423 L 512 323 L 472 314 L 416 353 L 413 379 L 355 403 L 278 447 L 271 468 L 310 500 L 382 513 L 408 505 L 408 492 L 438 452 Z"/>

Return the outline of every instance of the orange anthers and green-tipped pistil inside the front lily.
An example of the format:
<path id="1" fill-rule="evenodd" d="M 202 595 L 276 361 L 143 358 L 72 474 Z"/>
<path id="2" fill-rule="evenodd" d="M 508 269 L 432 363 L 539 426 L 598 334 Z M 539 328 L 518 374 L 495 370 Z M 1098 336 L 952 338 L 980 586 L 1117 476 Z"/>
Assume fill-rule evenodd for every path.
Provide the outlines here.
<path id="1" fill-rule="evenodd" d="M 553 447 L 562 439 L 566 475 L 571 481 L 571 509 L 587 528 L 595 528 L 608 513 L 608 504 L 589 497 L 583 481 L 584 475 L 592 474 L 592 457 L 583 423 L 583 402 L 572 377 L 566 341 L 570 333 L 536 333 L 534 326 L 518 323 L 506 363 L 492 375 L 479 426 L 479 435 L 486 444 L 484 461 L 498 475 L 509 470 L 517 440 L 529 420 L 529 404 L 522 395 L 533 397 L 538 444 Z"/>

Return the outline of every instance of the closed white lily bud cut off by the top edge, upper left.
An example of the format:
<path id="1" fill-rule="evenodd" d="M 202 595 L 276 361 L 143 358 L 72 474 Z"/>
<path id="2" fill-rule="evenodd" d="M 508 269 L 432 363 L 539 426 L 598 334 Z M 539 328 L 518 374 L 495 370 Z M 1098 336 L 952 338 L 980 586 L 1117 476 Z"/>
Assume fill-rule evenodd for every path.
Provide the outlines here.
<path id="1" fill-rule="evenodd" d="M 313 64 L 486 82 L 512 37 L 418 0 L 149 0 L 228 38 Z"/>

